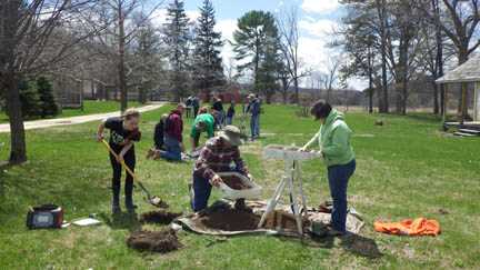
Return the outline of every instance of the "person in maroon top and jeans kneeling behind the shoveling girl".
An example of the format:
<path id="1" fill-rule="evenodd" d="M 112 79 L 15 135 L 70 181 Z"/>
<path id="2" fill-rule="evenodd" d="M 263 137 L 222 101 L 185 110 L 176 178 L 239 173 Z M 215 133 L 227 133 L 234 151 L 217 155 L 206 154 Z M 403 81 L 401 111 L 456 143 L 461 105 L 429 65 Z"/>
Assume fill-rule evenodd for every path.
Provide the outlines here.
<path id="1" fill-rule="evenodd" d="M 183 147 L 183 113 L 184 104 L 179 103 L 177 109 L 172 110 L 166 120 L 164 127 L 164 149 L 159 150 L 160 158 L 170 161 L 181 161 Z"/>

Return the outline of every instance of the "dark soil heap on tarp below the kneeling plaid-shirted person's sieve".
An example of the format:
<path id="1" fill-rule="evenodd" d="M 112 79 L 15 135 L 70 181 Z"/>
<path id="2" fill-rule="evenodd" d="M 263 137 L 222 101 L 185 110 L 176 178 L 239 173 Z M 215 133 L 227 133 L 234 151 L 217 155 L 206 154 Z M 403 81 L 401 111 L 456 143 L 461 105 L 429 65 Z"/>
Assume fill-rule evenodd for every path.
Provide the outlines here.
<path id="1" fill-rule="evenodd" d="M 200 214 L 198 221 L 207 227 L 223 231 L 256 230 L 260 216 L 229 207 L 212 209 Z"/>

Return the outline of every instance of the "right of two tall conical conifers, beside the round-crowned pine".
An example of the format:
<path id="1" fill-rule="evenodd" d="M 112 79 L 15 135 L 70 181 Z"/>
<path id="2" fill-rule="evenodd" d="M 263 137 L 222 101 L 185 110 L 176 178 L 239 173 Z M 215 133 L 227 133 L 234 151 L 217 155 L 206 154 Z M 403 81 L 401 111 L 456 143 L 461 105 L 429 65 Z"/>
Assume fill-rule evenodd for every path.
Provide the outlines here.
<path id="1" fill-rule="evenodd" d="M 193 83 L 194 88 L 204 91 L 207 97 L 210 97 L 212 88 L 224 83 L 220 54 L 223 42 L 221 33 L 214 31 L 216 23 L 211 0 L 203 0 L 194 30 Z"/>

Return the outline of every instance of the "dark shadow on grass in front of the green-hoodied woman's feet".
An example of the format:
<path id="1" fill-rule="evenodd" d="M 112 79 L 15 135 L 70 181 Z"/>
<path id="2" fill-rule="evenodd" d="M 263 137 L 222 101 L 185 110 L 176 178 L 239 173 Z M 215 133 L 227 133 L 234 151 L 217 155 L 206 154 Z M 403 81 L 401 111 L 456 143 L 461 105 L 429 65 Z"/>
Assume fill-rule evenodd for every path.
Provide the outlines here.
<path id="1" fill-rule="evenodd" d="M 377 259 L 383 256 L 373 239 L 356 233 L 344 236 L 341 239 L 341 247 L 353 254 L 369 259 Z"/>

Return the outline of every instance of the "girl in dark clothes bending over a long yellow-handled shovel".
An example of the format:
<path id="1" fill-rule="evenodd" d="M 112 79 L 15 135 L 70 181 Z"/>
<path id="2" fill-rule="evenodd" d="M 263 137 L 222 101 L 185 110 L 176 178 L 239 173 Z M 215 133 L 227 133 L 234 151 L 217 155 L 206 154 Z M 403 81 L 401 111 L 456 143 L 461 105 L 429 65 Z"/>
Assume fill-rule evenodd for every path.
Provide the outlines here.
<path id="1" fill-rule="evenodd" d="M 141 133 L 139 130 L 140 112 L 134 109 L 127 110 L 120 118 L 108 118 L 102 123 L 100 123 L 97 138 L 98 141 L 103 140 L 104 129 L 110 130 L 110 148 L 118 154 L 116 158 L 110 153 L 110 163 L 113 170 L 112 177 L 112 212 L 119 213 L 120 209 L 120 179 L 122 166 L 124 163 L 134 171 L 136 167 L 136 153 L 133 142 L 140 141 Z M 124 182 L 124 196 L 126 196 L 126 208 L 129 212 L 133 212 L 137 208 L 133 204 L 133 177 L 126 172 Z"/>

